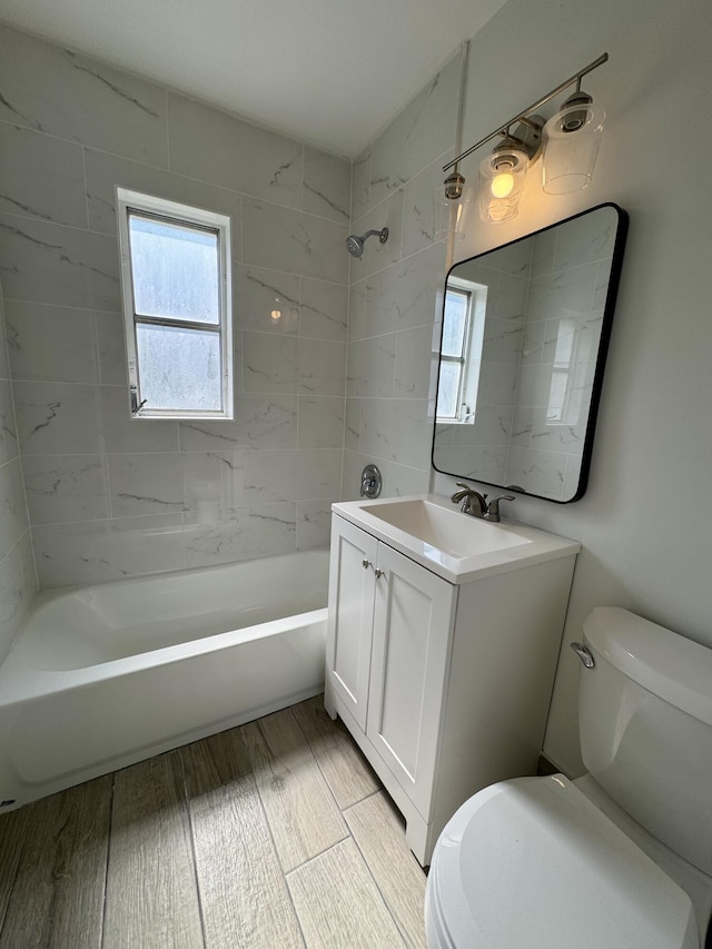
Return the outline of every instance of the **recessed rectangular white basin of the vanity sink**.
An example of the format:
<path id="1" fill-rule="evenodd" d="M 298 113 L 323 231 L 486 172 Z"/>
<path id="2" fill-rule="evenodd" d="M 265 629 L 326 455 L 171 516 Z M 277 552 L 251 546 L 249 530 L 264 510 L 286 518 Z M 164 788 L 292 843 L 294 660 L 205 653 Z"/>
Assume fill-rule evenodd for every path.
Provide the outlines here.
<path id="1" fill-rule="evenodd" d="M 428 501 L 427 497 L 393 501 L 384 504 L 364 504 L 362 511 L 380 517 L 394 527 L 432 544 L 453 557 L 471 557 L 490 554 L 518 544 L 531 544 L 528 537 L 513 534 L 501 524 L 463 514 Z"/>

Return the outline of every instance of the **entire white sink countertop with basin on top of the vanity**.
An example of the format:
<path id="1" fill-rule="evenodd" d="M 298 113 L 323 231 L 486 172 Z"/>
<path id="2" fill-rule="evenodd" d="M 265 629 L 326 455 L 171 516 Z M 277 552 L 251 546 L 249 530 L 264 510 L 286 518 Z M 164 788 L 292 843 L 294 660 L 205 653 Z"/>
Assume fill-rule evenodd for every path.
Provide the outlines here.
<path id="1" fill-rule="evenodd" d="M 422 494 L 348 501 L 333 512 L 451 583 L 577 553 L 574 541 L 512 521 L 463 514 L 447 497 Z"/>

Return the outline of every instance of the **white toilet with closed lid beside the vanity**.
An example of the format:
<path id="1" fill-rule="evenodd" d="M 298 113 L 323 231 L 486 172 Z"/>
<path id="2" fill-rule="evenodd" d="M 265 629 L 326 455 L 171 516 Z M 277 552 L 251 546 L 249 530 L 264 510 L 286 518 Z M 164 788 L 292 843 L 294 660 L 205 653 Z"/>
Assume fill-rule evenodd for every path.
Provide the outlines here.
<path id="1" fill-rule="evenodd" d="M 617 607 L 583 631 L 587 774 L 465 801 L 433 853 L 429 949 L 712 949 L 712 650 Z"/>

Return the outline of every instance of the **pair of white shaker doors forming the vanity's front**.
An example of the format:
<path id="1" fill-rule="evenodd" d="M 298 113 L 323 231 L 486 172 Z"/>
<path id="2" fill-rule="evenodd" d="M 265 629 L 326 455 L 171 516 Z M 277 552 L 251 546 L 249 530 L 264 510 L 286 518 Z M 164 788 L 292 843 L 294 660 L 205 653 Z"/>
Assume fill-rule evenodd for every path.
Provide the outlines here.
<path id="1" fill-rule="evenodd" d="M 455 591 L 334 518 L 326 661 L 336 708 L 421 811 L 433 787 Z"/>

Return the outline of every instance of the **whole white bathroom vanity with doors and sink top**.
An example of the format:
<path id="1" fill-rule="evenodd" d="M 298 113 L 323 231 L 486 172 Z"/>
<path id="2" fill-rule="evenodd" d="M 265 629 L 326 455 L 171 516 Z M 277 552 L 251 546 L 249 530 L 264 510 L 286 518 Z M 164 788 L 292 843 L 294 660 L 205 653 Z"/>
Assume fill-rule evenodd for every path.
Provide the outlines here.
<path id="1" fill-rule="evenodd" d="M 434 495 L 333 505 L 325 705 L 423 866 L 466 798 L 536 771 L 578 550 Z"/>

